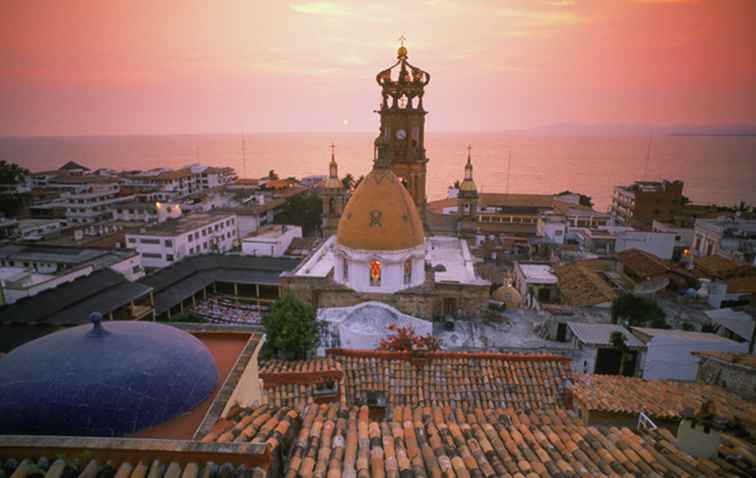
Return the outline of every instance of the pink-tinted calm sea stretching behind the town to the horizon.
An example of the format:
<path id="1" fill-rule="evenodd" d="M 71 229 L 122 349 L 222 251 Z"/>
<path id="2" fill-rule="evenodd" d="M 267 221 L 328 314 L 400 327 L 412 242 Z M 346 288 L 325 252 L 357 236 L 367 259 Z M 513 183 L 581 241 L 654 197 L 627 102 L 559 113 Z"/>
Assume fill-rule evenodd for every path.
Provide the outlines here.
<path id="1" fill-rule="evenodd" d="M 241 135 L 4 137 L 0 160 L 31 171 L 76 161 L 91 169 L 149 169 L 192 163 L 231 166 L 239 176 L 328 173 L 331 142 L 339 174 L 355 177 L 372 165 L 377 133 L 258 133 Z M 580 192 L 600 210 L 615 185 L 636 180 L 682 179 L 695 203 L 756 204 L 756 136 L 505 133 L 429 133 L 428 197 L 441 199 L 461 179 L 472 145 L 475 180 L 482 192 Z M 650 154 L 647 152 L 650 149 Z M 511 161 L 510 161 L 511 158 Z"/>

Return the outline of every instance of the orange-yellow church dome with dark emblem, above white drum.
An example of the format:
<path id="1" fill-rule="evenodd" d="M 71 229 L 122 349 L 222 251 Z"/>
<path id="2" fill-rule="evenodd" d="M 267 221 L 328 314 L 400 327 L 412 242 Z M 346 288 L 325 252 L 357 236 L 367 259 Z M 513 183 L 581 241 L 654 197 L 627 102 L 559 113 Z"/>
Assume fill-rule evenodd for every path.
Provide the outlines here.
<path id="1" fill-rule="evenodd" d="M 336 242 L 350 249 L 397 251 L 425 243 L 412 196 L 389 169 L 362 180 L 339 220 Z"/>

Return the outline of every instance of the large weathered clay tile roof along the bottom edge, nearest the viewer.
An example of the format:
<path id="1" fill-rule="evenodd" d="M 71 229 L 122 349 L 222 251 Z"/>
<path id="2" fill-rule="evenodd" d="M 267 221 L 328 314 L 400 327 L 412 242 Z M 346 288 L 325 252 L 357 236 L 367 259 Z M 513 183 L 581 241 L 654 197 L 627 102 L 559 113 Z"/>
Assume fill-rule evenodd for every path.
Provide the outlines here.
<path id="1" fill-rule="evenodd" d="M 203 441 L 286 444 L 287 478 L 748 476 L 753 447 L 724 436 L 720 456 L 695 459 L 667 430 L 585 426 L 563 409 L 390 409 L 381 421 L 367 406 L 311 405 L 300 412 L 237 410 Z"/>

